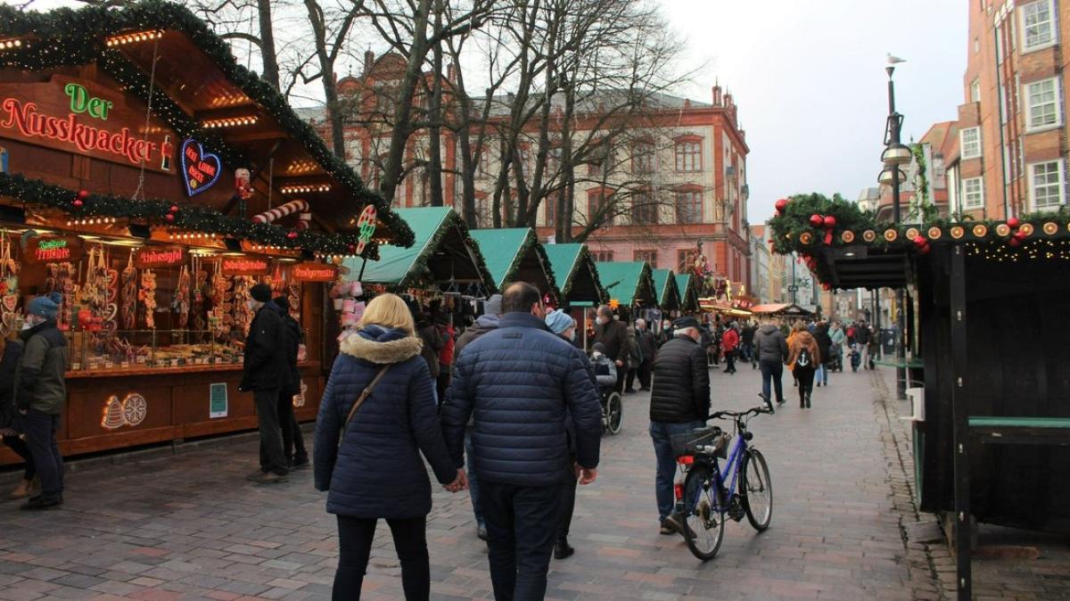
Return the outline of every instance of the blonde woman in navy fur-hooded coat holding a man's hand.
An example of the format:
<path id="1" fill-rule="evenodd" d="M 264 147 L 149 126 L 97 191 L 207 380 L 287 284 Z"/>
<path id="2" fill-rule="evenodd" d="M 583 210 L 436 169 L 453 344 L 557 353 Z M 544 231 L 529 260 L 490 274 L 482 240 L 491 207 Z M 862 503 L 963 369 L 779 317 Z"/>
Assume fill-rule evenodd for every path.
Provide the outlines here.
<path id="1" fill-rule="evenodd" d="M 434 383 L 412 314 L 394 294 L 368 304 L 340 343 L 316 422 L 316 489 L 338 517 L 334 599 L 361 598 L 376 523 L 386 520 L 406 599 L 430 597 L 427 514 L 431 487 L 421 452 L 450 492 L 467 486 L 446 451 Z"/>

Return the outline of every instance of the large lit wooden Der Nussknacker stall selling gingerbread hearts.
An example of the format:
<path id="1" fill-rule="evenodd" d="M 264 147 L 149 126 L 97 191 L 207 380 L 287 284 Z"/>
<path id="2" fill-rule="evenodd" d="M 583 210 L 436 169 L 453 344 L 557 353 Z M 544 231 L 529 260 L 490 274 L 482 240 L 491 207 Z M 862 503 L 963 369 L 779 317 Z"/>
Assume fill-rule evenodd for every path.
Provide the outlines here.
<path id="1" fill-rule="evenodd" d="M 0 333 L 62 293 L 61 451 L 254 428 L 236 384 L 261 281 L 305 332 L 295 404 L 314 417 L 323 258 L 411 244 L 409 228 L 178 4 L 0 6 Z"/>

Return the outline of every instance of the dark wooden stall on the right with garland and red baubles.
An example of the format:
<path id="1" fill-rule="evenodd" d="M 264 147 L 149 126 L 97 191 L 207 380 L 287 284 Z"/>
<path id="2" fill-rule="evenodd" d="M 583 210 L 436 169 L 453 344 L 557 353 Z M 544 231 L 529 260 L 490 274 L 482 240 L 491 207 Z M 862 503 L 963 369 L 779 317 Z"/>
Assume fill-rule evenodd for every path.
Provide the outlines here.
<path id="1" fill-rule="evenodd" d="M 914 490 L 952 526 L 958 598 L 972 594 L 972 520 L 1070 533 L 1070 218 L 893 227 L 804 197 L 771 227 L 775 250 L 801 253 L 828 288 L 907 293 L 897 367 L 923 384 Z"/>

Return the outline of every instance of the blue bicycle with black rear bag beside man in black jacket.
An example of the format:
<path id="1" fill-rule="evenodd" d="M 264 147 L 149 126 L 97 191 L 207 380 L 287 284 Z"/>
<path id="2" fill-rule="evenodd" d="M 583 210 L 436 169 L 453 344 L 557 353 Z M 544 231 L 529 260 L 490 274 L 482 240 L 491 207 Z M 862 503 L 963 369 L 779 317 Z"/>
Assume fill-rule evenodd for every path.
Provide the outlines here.
<path id="1" fill-rule="evenodd" d="M 674 487 L 676 515 L 681 517 L 687 548 L 703 561 L 717 555 L 724 538 L 725 517 L 740 522 L 746 515 L 759 533 L 765 531 L 773 520 L 769 466 L 765 457 L 748 445 L 754 436 L 747 430 L 747 422 L 763 413 L 773 412 L 761 406 L 745 412 L 719 411 L 706 418 L 735 421 L 736 442 L 731 452 L 728 447 L 732 436 L 718 426 L 672 437 L 683 478 Z M 723 472 L 719 468 L 722 459 L 727 461 Z"/>

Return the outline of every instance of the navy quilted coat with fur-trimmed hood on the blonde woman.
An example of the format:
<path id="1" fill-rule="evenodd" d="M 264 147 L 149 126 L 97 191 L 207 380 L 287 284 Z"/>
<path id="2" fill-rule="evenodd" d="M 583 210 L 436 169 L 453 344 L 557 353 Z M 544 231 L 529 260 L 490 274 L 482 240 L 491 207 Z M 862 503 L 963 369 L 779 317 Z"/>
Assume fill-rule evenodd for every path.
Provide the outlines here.
<path id="1" fill-rule="evenodd" d="M 431 511 L 424 452 L 439 482 L 457 478 L 434 406 L 418 338 L 377 325 L 341 343 L 316 421 L 316 489 L 330 490 L 327 511 L 354 518 L 421 518 Z M 350 421 L 361 391 L 393 364 Z"/>

